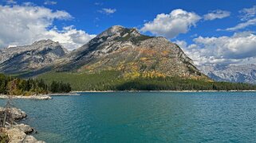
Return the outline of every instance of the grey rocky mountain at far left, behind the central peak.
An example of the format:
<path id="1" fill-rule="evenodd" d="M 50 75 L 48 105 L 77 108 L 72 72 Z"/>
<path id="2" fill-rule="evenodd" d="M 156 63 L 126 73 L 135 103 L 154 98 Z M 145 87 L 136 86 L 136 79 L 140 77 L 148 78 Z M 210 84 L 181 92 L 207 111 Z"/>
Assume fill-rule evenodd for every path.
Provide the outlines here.
<path id="1" fill-rule="evenodd" d="M 31 45 L 0 49 L 0 72 L 30 72 L 53 63 L 68 51 L 58 42 L 43 40 Z"/>

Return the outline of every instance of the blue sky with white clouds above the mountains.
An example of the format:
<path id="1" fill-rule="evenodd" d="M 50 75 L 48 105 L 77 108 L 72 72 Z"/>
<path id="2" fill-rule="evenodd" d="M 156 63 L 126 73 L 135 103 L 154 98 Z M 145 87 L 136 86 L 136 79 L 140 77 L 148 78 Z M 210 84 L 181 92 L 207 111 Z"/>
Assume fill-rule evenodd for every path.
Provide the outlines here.
<path id="1" fill-rule="evenodd" d="M 256 64 L 256 0 L 0 0 L 0 48 L 73 50 L 112 25 L 166 37 L 199 66 Z"/>

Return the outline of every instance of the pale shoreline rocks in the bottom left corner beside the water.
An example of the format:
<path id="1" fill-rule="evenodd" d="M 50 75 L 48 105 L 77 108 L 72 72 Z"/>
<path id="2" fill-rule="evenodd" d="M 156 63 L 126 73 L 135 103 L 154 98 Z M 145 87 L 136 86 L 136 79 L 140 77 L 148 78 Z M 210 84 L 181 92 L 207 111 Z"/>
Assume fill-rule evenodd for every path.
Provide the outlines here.
<path id="1" fill-rule="evenodd" d="M 0 107 L 0 113 L 3 110 L 4 108 Z M 24 111 L 18 108 L 11 108 L 10 113 L 12 114 L 12 117 L 14 117 L 15 121 L 26 118 L 27 116 Z M 45 141 L 37 141 L 35 137 L 31 136 L 30 133 L 33 133 L 33 128 L 25 124 L 16 124 L 13 126 L 6 124 L 6 127 L 5 128 L 0 127 L 0 130 L 2 132 L 0 136 L 5 137 L 4 140 L 8 141 L 9 143 L 44 143 L 45 142 Z M 2 137 L 0 137 L 0 140 L 1 139 Z"/>

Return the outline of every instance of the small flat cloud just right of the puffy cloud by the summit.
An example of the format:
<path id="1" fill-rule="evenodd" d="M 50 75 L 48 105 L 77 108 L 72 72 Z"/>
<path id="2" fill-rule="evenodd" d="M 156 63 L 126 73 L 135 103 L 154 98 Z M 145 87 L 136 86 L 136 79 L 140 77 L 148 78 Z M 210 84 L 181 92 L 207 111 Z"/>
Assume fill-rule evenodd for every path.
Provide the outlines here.
<path id="1" fill-rule="evenodd" d="M 206 21 L 212 21 L 215 19 L 222 19 L 224 17 L 229 17 L 230 12 L 229 11 L 224 11 L 224 10 L 214 10 L 211 11 L 209 14 L 203 15 L 203 19 Z"/>

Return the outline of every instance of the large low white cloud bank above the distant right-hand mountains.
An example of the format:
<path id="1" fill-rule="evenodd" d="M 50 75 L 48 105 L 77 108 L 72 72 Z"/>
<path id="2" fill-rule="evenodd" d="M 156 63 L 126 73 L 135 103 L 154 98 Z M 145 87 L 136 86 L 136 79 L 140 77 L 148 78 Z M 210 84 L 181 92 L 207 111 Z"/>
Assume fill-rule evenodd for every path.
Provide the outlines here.
<path id="1" fill-rule="evenodd" d="M 256 35 L 234 33 L 231 37 L 197 37 L 195 44 L 177 42 L 195 64 L 234 64 L 256 58 Z"/>

